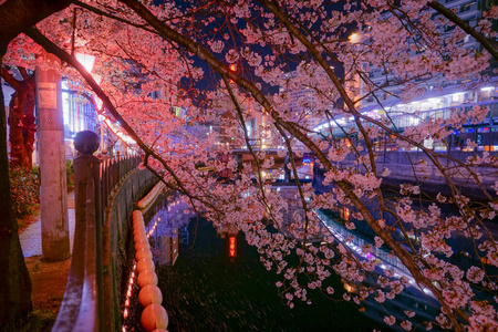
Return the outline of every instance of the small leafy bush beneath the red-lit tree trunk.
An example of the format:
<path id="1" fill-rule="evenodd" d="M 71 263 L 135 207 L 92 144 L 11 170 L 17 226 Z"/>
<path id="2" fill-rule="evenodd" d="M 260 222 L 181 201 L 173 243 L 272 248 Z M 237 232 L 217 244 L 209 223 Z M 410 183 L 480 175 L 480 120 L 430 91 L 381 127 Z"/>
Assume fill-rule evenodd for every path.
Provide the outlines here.
<path id="1" fill-rule="evenodd" d="M 25 172 L 21 166 L 9 172 L 12 208 L 19 217 L 34 214 L 40 204 L 40 179 L 38 168 Z"/>

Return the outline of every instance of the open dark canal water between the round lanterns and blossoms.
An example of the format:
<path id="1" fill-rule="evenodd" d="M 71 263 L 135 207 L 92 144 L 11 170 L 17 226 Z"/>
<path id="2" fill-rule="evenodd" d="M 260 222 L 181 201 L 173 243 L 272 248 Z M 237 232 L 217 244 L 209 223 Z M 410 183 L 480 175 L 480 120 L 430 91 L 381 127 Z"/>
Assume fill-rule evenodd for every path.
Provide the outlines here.
<path id="1" fill-rule="evenodd" d="M 173 267 L 158 267 L 168 331 L 388 331 L 341 299 L 342 284 L 332 280 L 336 299 L 309 293 L 311 305 L 290 309 L 278 295 L 278 277 L 239 235 L 237 256 L 229 257 L 228 238 L 217 238 L 204 219 L 191 219 L 189 243 L 180 245 Z M 195 235 L 197 232 L 197 235 Z"/>

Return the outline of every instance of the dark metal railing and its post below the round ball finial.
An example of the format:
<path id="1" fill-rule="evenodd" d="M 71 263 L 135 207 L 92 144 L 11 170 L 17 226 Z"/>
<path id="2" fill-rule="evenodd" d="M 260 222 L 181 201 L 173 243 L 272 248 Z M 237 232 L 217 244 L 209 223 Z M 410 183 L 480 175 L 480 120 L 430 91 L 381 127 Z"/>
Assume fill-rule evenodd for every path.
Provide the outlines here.
<path id="1" fill-rule="evenodd" d="M 104 229 L 112 197 L 137 169 L 136 156 L 104 158 L 85 154 L 74 159 L 75 230 L 64 298 L 52 331 L 105 331 Z M 133 197 L 129 197 L 133 198 Z M 129 201 L 129 205 L 133 205 Z"/>

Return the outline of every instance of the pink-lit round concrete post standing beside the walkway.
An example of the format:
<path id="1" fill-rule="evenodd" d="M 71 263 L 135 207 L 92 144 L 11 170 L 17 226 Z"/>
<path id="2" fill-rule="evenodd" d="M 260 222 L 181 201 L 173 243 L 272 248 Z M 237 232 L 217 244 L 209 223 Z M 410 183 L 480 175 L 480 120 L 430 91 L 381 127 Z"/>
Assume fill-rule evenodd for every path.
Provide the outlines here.
<path id="1" fill-rule="evenodd" d="M 42 56 L 60 63 L 53 54 Z M 70 257 L 70 238 L 61 74 L 38 66 L 35 77 L 42 255 L 44 260 L 65 260 Z"/>

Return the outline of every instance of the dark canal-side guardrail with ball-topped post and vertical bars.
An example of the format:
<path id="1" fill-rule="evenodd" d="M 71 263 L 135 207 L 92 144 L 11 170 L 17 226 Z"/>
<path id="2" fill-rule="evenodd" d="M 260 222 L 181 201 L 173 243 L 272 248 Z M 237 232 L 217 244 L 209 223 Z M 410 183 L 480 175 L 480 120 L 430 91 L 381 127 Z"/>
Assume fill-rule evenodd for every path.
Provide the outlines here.
<path id="1" fill-rule="evenodd" d="M 115 331 L 125 264 L 116 263 L 116 252 L 122 249 L 126 260 L 126 221 L 139 193 L 157 180 L 151 172 L 137 168 L 137 156 L 100 159 L 92 155 L 97 144 L 75 145 L 82 155 L 74 159 L 73 257 L 52 331 Z"/>

